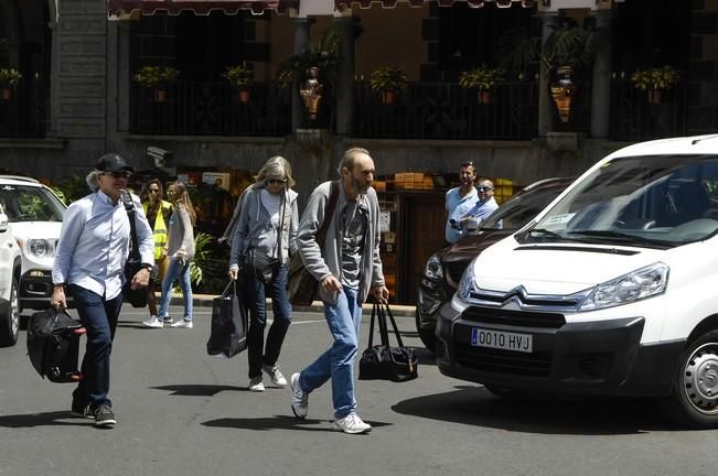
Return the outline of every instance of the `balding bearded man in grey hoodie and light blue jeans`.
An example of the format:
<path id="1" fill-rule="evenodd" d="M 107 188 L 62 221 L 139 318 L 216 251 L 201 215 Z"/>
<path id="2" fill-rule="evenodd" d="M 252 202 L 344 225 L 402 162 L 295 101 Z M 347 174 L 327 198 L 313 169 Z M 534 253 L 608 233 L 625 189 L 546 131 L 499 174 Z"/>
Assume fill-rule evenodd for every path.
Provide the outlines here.
<path id="1" fill-rule="evenodd" d="M 332 188 L 332 182 L 324 182 L 309 197 L 297 235 L 304 267 L 320 283 L 319 296 L 334 343 L 304 370 L 291 376 L 291 408 L 297 418 L 307 418 L 309 393 L 331 378 L 334 426 L 345 433 L 367 433 L 372 426 L 356 414 L 354 398 L 362 303 L 369 292 L 382 303 L 389 296 L 379 258 L 379 206 L 372 188 L 374 161 L 365 149 L 350 149 L 344 152 L 339 174 L 334 213 L 324 216 Z M 317 232 L 326 219 L 326 238 L 320 247 Z"/>

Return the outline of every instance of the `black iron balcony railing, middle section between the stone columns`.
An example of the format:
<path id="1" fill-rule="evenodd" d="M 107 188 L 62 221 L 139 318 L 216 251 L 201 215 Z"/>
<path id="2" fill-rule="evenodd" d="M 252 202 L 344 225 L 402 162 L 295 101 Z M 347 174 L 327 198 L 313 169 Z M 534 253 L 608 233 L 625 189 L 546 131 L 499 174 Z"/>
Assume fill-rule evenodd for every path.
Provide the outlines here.
<path id="1" fill-rule="evenodd" d="M 387 105 L 368 83 L 357 82 L 354 101 L 355 137 L 525 140 L 537 131 L 536 83 L 502 85 L 489 104 L 456 83 L 411 83 Z"/>

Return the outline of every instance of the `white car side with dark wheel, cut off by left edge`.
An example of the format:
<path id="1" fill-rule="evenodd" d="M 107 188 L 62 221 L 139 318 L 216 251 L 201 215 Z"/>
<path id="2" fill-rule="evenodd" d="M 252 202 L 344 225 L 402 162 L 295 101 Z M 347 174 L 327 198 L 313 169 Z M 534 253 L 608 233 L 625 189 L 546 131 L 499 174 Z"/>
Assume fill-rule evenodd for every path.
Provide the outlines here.
<path id="1" fill-rule="evenodd" d="M 18 279 L 22 255 L 0 206 L 0 347 L 14 345 L 20 329 Z"/>

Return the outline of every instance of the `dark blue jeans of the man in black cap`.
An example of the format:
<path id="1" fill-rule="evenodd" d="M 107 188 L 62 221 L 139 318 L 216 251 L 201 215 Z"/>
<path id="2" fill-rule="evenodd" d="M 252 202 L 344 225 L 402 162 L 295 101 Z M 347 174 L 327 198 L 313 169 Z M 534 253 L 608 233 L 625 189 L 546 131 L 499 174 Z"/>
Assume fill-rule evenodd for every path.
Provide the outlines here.
<path id="1" fill-rule="evenodd" d="M 79 321 L 87 329 L 87 345 L 81 367 L 83 379 L 73 392 L 73 401 L 82 407 L 111 407 L 112 402 L 107 398 L 109 355 L 112 350 L 117 318 L 122 309 L 122 294 L 105 300 L 104 296 L 77 284 L 69 284 L 68 291 L 75 302 Z"/>

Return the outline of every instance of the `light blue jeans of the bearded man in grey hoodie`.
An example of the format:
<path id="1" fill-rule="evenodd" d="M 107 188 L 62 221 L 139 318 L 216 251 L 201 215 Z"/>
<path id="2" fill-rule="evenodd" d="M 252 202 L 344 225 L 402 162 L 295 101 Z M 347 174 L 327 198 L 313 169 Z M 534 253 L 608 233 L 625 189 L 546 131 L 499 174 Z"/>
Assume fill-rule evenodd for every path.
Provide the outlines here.
<path id="1" fill-rule="evenodd" d="M 354 357 L 358 353 L 362 303 L 357 290 L 344 286 L 336 304 L 324 303 L 324 317 L 334 343 L 299 375 L 299 387 L 311 392 L 332 379 L 334 418 L 344 418 L 356 410 L 354 399 Z"/>

